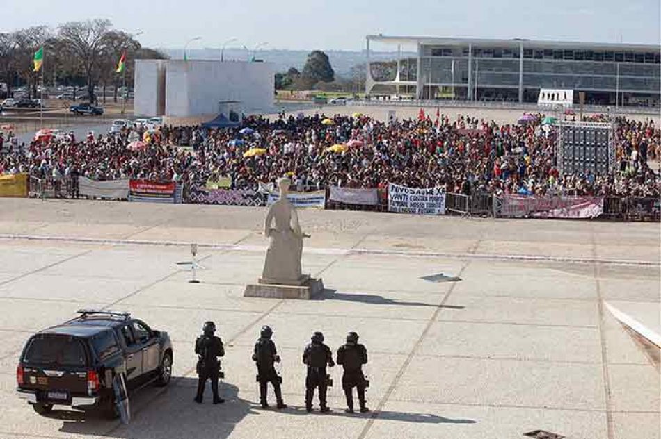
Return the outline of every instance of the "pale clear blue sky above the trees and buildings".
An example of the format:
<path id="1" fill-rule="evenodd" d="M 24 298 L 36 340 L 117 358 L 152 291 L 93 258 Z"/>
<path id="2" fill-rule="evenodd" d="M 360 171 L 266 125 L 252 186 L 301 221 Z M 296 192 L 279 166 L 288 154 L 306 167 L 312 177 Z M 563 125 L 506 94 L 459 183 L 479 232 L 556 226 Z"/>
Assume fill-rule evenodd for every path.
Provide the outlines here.
<path id="1" fill-rule="evenodd" d="M 365 47 L 365 35 L 659 44 L 659 0 L 3 0 L 0 31 L 88 18 L 143 31 L 149 47 Z M 378 47 L 373 49 L 379 50 Z"/>

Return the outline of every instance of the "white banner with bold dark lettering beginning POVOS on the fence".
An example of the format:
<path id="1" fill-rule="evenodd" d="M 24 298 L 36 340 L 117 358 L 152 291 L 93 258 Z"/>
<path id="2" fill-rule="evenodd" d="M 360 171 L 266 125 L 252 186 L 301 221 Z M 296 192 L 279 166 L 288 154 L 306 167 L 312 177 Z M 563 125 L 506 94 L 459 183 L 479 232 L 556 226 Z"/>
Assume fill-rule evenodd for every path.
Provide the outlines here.
<path id="1" fill-rule="evenodd" d="M 388 211 L 445 215 L 445 188 L 407 188 L 388 183 Z"/>

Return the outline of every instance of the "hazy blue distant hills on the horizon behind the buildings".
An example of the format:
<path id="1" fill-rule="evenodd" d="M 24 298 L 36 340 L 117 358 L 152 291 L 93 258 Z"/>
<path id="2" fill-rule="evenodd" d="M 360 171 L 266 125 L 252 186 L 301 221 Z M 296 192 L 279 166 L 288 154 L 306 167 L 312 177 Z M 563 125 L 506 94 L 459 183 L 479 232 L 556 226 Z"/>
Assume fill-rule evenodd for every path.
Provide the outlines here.
<path id="1" fill-rule="evenodd" d="M 184 58 L 184 51 L 182 49 L 160 49 L 166 53 L 170 58 Z M 256 53 L 256 58 L 262 59 L 267 63 L 276 65 L 276 72 L 285 72 L 289 67 L 296 67 L 298 70 L 303 69 L 305 60 L 308 59 L 307 50 L 260 50 Z M 330 59 L 330 65 L 333 66 L 335 74 L 339 76 L 348 76 L 351 72 L 351 67 L 365 63 L 365 51 L 342 51 L 342 50 L 329 50 L 326 55 Z M 370 52 L 371 60 L 395 60 L 397 52 Z M 415 53 L 402 53 L 402 56 L 415 56 Z M 197 60 L 214 60 L 221 57 L 220 49 L 189 49 L 187 56 L 189 59 Z M 247 60 L 248 51 L 246 49 L 227 48 L 225 49 L 225 60 Z"/>

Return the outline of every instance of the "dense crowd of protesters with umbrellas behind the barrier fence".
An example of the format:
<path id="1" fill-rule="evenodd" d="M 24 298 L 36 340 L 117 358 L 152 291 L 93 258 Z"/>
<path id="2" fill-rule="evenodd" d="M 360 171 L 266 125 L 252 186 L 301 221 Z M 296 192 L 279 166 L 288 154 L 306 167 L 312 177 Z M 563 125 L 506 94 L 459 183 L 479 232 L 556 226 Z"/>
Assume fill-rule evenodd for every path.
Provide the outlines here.
<path id="1" fill-rule="evenodd" d="M 287 175 L 298 190 L 397 183 L 464 194 L 659 196 L 658 165 L 651 169 L 648 163 L 660 159 L 661 129 L 651 119 L 614 121 L 616 169 L 607 175 L 561 175 L 555 165 L 557 133 L 542 126 L 542 119 L 501 125 L 422 111 L 415 119 L 390 122 L 359 114 L 252 116 L 241 129 L 162 126 L 137 150 L 127 148 L 128 131 L 32 142 L 2 154 L 0 174 L 200 185 L 230 177 L 232 188 L 257 188 Z M 244 157 L 255 148 L 260 151 Z"/>

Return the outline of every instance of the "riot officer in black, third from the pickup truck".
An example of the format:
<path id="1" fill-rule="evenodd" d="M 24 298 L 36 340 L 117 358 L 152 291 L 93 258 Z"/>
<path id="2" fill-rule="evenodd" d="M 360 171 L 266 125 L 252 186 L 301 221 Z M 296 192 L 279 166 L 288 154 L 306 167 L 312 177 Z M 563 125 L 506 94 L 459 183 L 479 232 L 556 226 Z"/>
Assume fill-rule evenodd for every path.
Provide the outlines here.
<path id="1" fill-rule="evenodd" d="M 330 347 L 324 345 L 324 334 L 315 332 L 312 342 L 303 351 L 303 363 L 308 365 L 308 376 L 305 377 L 305 410 L 312 411 L 314 388 L 319 388 L 319 406 L 321 413 L 330 411 L 326 405 L 326 390 L 328 390 L 328 375 L 326 365 L 333 367 L 333 354 Z"/>

